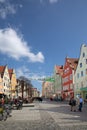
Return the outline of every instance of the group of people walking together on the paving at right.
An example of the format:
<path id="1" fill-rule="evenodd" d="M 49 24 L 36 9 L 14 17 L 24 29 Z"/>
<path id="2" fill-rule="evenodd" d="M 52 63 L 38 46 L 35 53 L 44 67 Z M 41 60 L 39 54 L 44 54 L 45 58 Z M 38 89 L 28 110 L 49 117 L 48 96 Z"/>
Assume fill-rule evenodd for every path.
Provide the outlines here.
<path id="1" fill-rule="evenodd" d="M 74 97 L 70 98 L 69 101 L 69 105 L 71 106 L 71 111 L 76 112 L 76 105 L 78 105 L 78 111 L 82 111 L 82 107 L 83 107 L 83 98 L 80 95 L 80 97 L 78 98 L 78 100 L 74 99 Z"/>

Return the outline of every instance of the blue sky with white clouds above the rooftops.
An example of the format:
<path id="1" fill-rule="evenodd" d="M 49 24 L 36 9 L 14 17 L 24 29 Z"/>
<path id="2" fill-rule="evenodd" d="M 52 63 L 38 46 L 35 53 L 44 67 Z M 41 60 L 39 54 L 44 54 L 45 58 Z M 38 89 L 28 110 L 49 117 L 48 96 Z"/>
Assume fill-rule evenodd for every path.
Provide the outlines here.
<path id="1" fill-rule="evenodd" d="M 52 76 L 65 57 L 78 58 L 87 44 L 87 0 L 0 0 L 0 65 L 17 77 Z"/>

